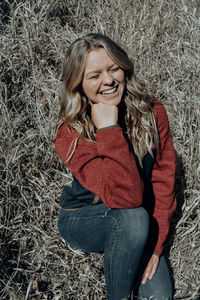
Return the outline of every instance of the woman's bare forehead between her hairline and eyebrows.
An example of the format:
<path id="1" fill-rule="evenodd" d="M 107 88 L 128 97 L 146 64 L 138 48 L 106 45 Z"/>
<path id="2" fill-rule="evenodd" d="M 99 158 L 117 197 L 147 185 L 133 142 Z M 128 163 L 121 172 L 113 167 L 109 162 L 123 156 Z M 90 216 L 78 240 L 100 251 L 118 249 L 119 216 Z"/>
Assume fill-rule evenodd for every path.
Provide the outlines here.
<path id="1" fill-rule="evenodd" d="M 92 50 L 86 59 L 85 72 L 92 72 L 113 64 L 113 60 L 108 56 L 103 48 Z"/>

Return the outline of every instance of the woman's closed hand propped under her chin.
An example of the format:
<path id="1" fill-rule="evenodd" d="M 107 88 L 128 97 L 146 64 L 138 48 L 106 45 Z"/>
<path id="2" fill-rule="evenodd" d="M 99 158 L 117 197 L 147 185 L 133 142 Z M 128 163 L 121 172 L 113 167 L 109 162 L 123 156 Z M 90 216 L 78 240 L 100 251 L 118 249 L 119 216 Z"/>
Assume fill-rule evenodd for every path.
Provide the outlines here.
<path id="1" fill-rule="evenodd" d="M 118 108 L 116 105 L 97 103 L 91 104 L 92 120 L 97 129 L 117 124 Z"/>

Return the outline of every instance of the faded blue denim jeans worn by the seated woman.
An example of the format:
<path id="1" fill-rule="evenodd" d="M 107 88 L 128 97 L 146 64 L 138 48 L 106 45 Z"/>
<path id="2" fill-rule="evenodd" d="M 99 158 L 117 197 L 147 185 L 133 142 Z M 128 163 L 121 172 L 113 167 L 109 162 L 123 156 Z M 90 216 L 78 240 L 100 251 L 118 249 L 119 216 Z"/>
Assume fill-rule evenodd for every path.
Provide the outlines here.
<path id="1" fill-rule="evenodd" d="M 142 207 L 111 209 L 103 203 L 72 211 L 60 211 L 58 229 L 71 246 L 86 252 L 104 253 L 104 274 L 109 300 L 128 299 L 138 274 L 148 262 L 145 244 L 149 215 Z M 139 277 L 138 277 L 139 278 Z M 140 284 L 139 299 L 172 299 L 172 281 L 161 256 L 156 274 Z"/>

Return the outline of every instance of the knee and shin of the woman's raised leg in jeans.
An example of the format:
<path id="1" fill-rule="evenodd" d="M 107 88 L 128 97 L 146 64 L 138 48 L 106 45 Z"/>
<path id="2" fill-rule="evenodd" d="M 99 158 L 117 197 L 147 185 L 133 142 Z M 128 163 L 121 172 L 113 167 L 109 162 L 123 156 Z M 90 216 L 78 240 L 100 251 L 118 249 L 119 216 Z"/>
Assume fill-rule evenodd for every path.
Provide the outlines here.
<path id="1" fill-rule="evenodd" d="M 148 238 L 149 216 L 144 208 L 111 210 L 112 231 L 104 248 L 108 299 L 128 299 Z"/>

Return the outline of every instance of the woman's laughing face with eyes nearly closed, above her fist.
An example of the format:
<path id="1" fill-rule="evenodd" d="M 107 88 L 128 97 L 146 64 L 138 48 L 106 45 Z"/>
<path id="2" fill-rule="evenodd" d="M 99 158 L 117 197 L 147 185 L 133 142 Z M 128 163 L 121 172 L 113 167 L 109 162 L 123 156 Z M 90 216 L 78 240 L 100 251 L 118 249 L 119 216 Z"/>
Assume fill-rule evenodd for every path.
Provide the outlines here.
<path id="1" fill-rule="evenodd" d="M 93 103 L 118 105 L 125 88 L 124 71 L 103 48 L 92 50 L 86 60 L 82 88 Z"/>

